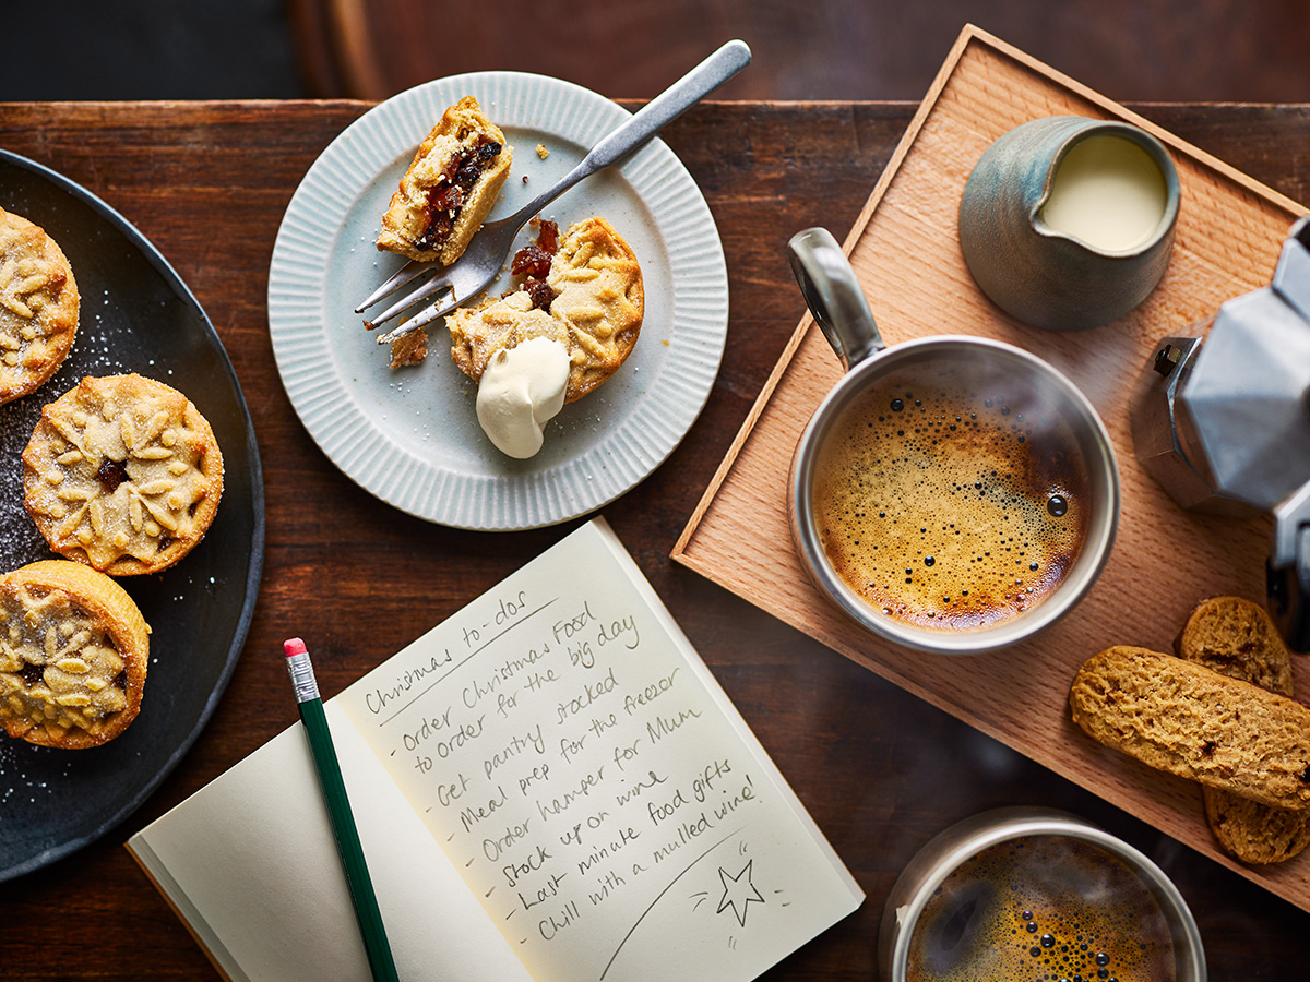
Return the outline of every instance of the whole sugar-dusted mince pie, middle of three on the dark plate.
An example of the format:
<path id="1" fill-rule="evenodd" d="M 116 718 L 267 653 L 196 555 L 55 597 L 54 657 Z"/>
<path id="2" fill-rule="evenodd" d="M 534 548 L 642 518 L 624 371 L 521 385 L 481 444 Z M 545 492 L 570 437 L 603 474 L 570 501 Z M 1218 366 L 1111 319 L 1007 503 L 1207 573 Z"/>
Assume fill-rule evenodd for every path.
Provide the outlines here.
<path id="1" fill-rule="evenodd" d="M 56 553 L 111 576 L 151 573 L 210 528 L 223 457 L 177 389 L 139 374 L 88 377 L 41 410 L 22 487 Z"/>

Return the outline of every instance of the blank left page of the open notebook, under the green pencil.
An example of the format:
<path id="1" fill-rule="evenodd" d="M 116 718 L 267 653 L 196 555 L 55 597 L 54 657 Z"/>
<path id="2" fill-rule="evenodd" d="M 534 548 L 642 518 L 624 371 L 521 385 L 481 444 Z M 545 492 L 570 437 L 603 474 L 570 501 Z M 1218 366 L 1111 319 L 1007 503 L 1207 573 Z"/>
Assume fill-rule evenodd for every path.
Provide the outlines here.
<path id="1" fill-rule="evenodd" d="M 401 978 L 531 982 L 350 720 L 325 710 Z M 371 982 L 300 724 L 128 847 L 228 978 Z"/>

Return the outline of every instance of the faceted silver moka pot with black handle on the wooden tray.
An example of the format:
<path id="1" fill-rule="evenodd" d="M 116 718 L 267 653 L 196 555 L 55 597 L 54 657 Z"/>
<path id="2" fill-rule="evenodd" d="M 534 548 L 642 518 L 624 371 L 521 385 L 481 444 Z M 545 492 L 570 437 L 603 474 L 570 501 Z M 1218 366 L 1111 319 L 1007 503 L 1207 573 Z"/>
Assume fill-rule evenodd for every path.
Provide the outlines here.
<path id="1" fill-rule="evenodd" d="M 1224 304 L 1204 340 L 1155 346 L 1132 419 L 1138 461 L 1179 505 L 1273 516 L 1269 613 L 1310 649 L 1310 216 L 1268 287 Z"/>

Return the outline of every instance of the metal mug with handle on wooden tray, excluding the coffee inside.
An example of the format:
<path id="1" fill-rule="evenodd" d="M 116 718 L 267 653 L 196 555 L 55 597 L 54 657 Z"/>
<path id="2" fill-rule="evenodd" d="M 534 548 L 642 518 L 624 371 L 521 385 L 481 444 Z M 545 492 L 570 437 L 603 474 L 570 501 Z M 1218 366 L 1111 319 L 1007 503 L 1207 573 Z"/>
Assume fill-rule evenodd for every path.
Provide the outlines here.
<path id="1" fill-rule="evenodd" d="M 976 655 L 1015 644 L 1068 613 L 1100 575 L 1119 524 L 1119 467 L 1110 435 L 1086 397 L 1064 374 L 1011 344 L 973 336 L 935 336 L 887 347 L 863 291 L 827 229 L 796 233 L 787 245 L 800 292 L 841 359 L 846 373 L 815 411 L 796 445 L 789 478 L 789 518 L 796 551 L 815 584 L 858 625 L 896 644 L 943 655 Z M 1003 380 L 1044 398 L 1069 427 L 1089 478 L 1090 521 L 1082 549 L 1047 600 L 1000 623 L 975 628 L 927 628 L 896 621 L 853 591 L 833 568 L 814 515 L 816 464 L 842 412 L 891 372 L 914 363 L 956 367 L 969 373 L 982 364 Z"/>

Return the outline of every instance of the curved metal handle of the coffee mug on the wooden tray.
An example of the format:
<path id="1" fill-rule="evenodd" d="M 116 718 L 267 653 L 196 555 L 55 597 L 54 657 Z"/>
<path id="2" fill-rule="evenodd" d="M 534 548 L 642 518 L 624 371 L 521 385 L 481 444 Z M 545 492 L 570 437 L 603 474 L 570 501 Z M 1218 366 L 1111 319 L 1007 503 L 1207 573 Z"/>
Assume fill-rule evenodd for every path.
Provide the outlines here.
<path id="1" fill-rule="evenodd" d="M 841 367 L 850 371 L 887 347 L 850 261 L 825 228 L 807 228 L 787 242 L 791 272 L 806 306 L 823 330 Z"/>

